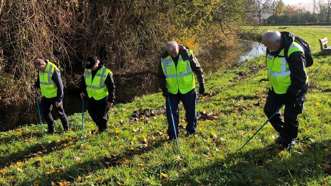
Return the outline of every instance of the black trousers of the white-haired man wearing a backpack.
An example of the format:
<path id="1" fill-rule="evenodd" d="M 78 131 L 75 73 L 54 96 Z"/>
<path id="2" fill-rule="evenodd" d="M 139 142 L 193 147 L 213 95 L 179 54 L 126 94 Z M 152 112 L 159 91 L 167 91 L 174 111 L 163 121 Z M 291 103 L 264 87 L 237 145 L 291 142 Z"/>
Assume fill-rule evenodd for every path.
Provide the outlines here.
<path id="1" fill-rule="evenodd" d="M 283 144 L 290 144 L 298 137 L 298 115 L 304 110 L 304 101 L 306 100 L 305 93 L 292 101 L 287 101 L 285 94 L 276 94 L 271 90 L 268 92 L 264 106 L 264 113 L 268 118 L 272 116 L 282 104 L 285 104 L 284 120 L 280 112 L 277 112 L 277 114 L 270 119 L 271 125 L 278 132 Z"/>

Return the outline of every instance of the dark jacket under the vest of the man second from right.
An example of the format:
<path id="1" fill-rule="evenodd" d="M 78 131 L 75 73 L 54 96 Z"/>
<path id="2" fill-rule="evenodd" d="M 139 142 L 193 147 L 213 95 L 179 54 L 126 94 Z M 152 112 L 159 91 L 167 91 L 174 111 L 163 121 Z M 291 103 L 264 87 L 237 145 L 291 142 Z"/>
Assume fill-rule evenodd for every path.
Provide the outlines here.
<path id="1" fill-rule="evenodd" d="M 197 58 L 193 55 L 193 52 L 191 52 L 191 55 L 188 56 L 189 51 L 190 51 L 190 49 L 187 46 L 179 45 L 179 53 L 181 54 L 181 57 L 183 58 L 184 61 L 189 60 L 191 69 L 197 75 L 198 82 L 201 85 L 204 83 L 204 75 L 203 75 L 202 68 L 201 68 Z M 160 88 L 162 89 L 162 91 L 166 90 L 167 88 L 166 88 L 166 76 L 162 70 L 161 59 L 166 58 L 167 56 L 168 56 L 168 52 L 165 51 L 159 57 L 158 78 L 159 78 Z M 178 64 L 178 57 L 179 57 L 179 55 L 176 58 L 172 58 L 176 67 Z"/>

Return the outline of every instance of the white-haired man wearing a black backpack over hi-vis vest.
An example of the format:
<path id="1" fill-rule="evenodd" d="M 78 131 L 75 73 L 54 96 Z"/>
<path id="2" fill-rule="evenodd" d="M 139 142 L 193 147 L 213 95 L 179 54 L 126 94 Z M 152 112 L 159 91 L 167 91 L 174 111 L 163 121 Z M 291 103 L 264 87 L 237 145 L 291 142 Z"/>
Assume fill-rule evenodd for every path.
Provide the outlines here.
<path id="1" fill-rule="evenodd" d="M 298 136 L 298 115 L 303 112 L 310 84 L 306 67 L 312 64 L 311 50 L 307 42 L 290 32 L 268 30 L 262 36 L 262 43 L 267 47 L 270 87 L 264 113 L 269 118 L 285 104 L 284 120 L 278 112 L 270 123 L 278 132 L 275 143 L 289 150 Z"/>

